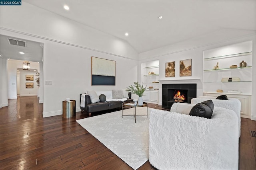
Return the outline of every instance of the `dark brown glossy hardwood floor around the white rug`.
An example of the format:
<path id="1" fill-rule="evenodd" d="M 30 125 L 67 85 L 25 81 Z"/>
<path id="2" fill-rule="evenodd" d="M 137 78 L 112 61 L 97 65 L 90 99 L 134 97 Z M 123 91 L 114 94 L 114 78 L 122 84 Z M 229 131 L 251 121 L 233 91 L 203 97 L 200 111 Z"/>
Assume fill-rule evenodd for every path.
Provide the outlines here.
<path id="1" fill-rule="evenodd" d="M 0 109 L 0 169 L 132 169 L 76 123 L 88 114 L 42 118 L 43 105 L 36 96 L 8 102 Z M 256 137 L 250 137 L 250 130 L 256 131 L 256 121 L 242 118 L 241 124 L 240 170 L 255 170 Z M 139 169 L 155 168 L 147 161 Z"/>

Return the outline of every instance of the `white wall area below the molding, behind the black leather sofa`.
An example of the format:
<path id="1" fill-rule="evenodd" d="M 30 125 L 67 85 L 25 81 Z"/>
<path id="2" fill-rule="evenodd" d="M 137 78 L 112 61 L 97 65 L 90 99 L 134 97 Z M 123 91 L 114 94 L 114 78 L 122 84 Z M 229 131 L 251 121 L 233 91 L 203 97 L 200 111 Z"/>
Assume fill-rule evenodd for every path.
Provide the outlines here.
<path id="1" fill-rule="evenodd" d="M 62 114 L 62 101 L 76 100 L 80 110 L 80 93 L 86 90 L 125 89 L 137 81 L 138 62 L 106 53 L 82 49 L 62 43 L 44 43 L 44 117 Z M 116 86 L 91 86 L 91 57 L 116 61 Z"/>

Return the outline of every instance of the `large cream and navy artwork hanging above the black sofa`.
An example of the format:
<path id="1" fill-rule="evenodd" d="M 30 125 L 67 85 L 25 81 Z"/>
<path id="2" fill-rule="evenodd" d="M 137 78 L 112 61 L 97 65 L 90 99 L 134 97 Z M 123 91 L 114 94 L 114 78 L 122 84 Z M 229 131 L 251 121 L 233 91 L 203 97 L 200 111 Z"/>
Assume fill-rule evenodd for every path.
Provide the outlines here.
<path id="1" fill-rule="evenodd" d="M 116 61 L 92 57 L 92 86 L 116 85 Z"/>

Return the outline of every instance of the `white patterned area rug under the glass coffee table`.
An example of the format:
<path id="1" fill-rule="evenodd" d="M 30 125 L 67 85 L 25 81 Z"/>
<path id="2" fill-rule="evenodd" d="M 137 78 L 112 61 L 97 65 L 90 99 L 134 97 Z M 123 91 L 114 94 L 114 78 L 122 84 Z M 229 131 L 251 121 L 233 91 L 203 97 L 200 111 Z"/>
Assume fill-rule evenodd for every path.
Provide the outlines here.
<path id="1" fill-rule="evenodd" d="M 151 108 L 148 108 L 148 115 Z M 137 115 L 146 115 L 146 107 L 138 107 Z M 133 108 L 124 115 L 133 115 Z M 130 167 L 137 169 L 148 160 L 149 117 L 124 116 L 122 111 L 88 117 L 77 122 Z"/>

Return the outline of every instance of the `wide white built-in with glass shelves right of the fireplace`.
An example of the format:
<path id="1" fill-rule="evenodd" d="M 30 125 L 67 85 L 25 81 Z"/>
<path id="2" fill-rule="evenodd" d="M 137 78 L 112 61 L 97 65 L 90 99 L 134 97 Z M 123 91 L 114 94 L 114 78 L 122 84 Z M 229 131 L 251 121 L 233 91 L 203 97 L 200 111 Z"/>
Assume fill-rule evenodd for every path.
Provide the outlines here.
<path id="1" fill-rule="evenodd" d="M 204 51 L 204 96 L 226 95 L 241 102 L 241 117 L 251 118 L 252 41 Z M 246 67 L 240 63 L 246 62 Z M 214 68 L 218 63 L 218 68 Z M 237 68 L 230 68 L 237 65 Z M 223 78 L 239 78 L 223 82 Z M 223 90 L 223 92 L 216 92 Z"/>

